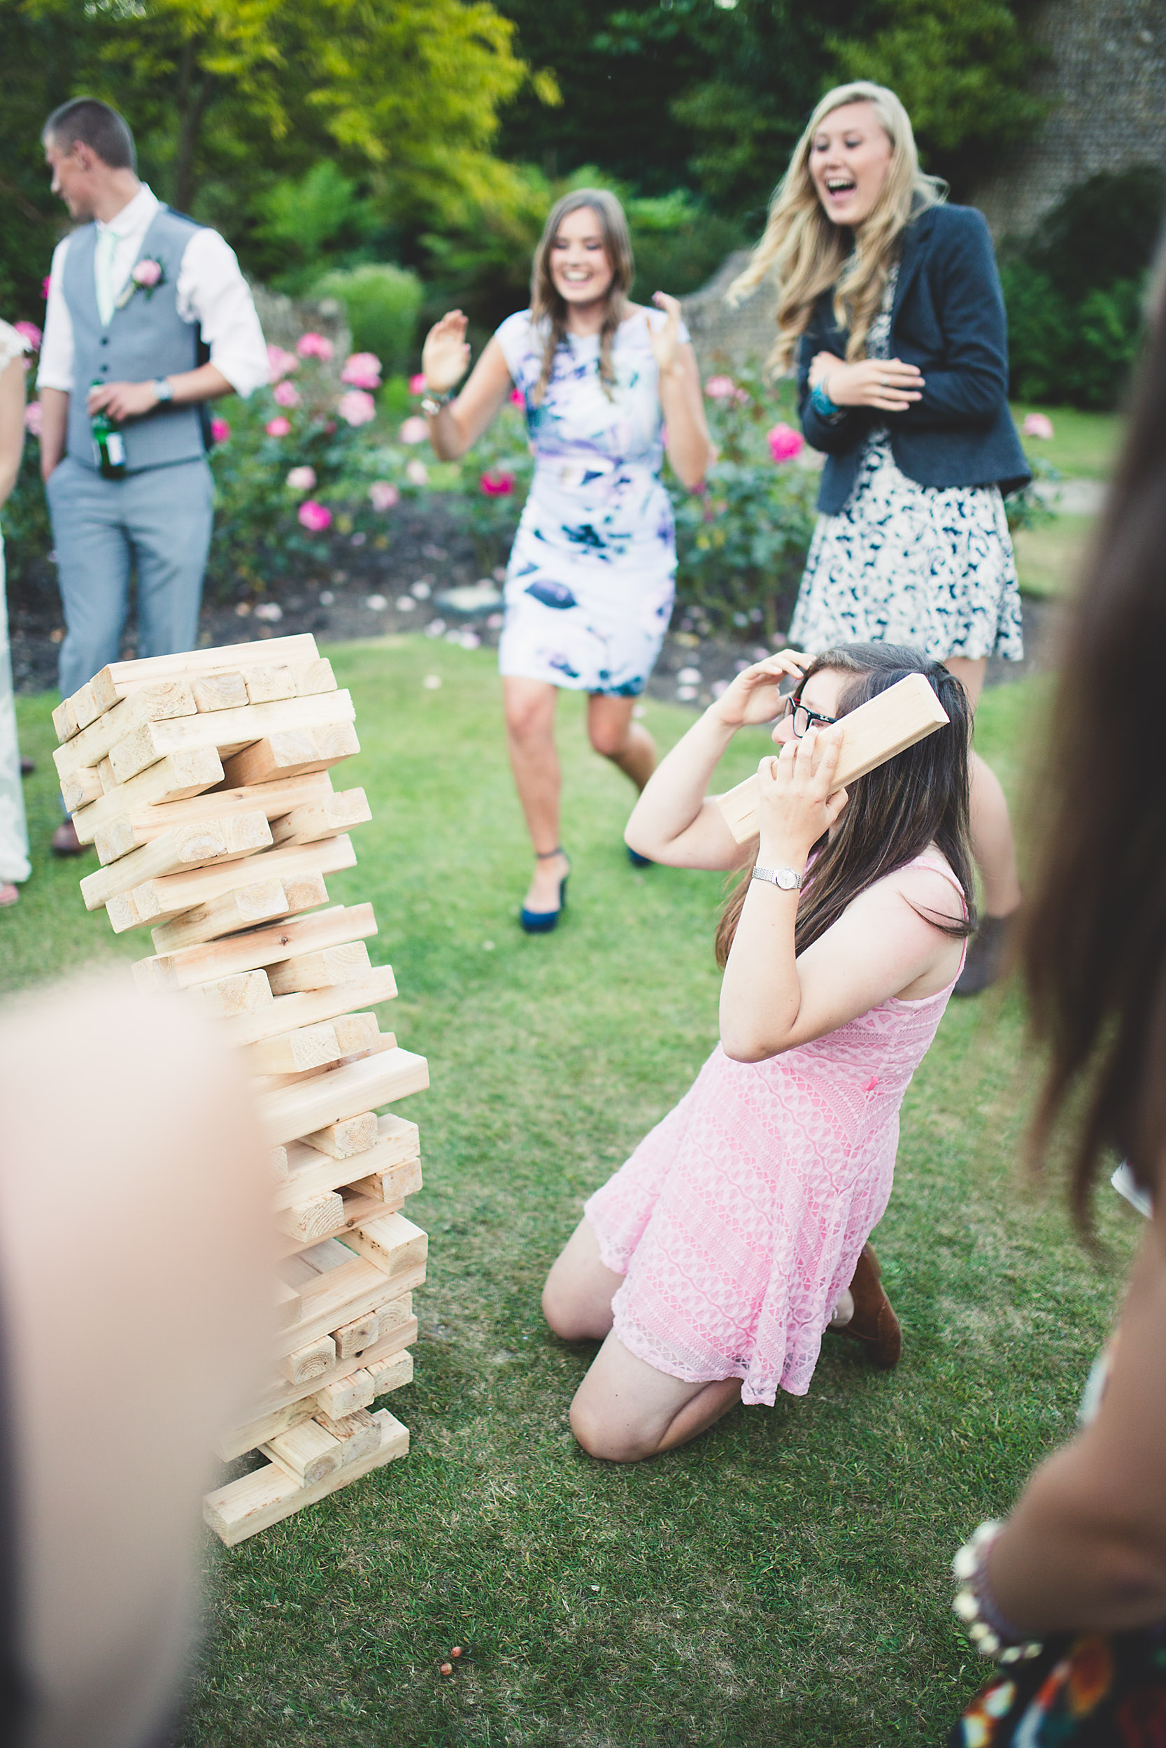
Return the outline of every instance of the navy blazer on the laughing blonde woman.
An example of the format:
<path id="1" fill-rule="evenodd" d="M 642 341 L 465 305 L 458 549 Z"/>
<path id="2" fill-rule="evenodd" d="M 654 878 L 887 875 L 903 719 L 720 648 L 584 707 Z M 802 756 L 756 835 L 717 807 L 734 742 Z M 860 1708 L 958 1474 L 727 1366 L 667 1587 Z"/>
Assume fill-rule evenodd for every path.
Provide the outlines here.
<path id="1" fill-rule="evenodd" d="M 797 411 L 806 442 L 827 454 L 818 509 L 836 516 L 858 477 L 862 442 L 892 434 L 895 463 L 920 486 L 1016 491 L 1031 468 L 1009 413 L 1009 330 L 991 236 L 974 206 L 928 206 L 902 232 L 890 357 L 918 364 L 923 395 L 902 413 L 844 407 L 830 423 L 809 404 L 818 351 L 846 357 L 834 292 L 818 297 L 797 353 Z"/>

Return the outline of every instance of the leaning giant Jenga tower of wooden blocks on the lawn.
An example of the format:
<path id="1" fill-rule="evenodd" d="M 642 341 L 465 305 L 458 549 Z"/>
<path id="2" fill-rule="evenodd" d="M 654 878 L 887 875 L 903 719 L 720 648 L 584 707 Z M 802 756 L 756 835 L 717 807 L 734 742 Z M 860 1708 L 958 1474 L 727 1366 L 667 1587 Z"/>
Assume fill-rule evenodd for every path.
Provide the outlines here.
<path id="1" fill-rule="evenodd" d="M 101 862 L 86 905 L 117 933 L 152 926 L 140 989 L 220 1016 L 271 1148 L 278 1346 L 220 1449 L 266 1463 L 205 1500 L 229 1545 L 409 1449 L 369 1405 L 413 1377 L 427 1238 L 400 1206 L 421 1187 L 418 1129 L 374 1110 L 428 1068 L 360 1012 L 397 995 L 369 963 L 372 905 L 320 909 L 369 820 L 364 790 L 329 774 L 360 750 L 353 718 L 311 636 L 115 662 L 52 713 L 65 801 Z"/>

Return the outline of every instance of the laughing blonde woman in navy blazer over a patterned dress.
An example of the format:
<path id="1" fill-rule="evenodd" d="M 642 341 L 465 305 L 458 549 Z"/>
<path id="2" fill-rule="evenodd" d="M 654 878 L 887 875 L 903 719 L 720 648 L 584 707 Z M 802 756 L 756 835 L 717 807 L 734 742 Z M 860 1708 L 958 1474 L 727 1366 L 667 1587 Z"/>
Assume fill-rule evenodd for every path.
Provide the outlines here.
<path id="1" fill-rule="evenodd" d="M 771 269 L 771 364 L 797 364 L 802 430 L 827 456 L 790 643 L 913 645 L 975 708 L 988 657 L 1024 654 L 1003 493 L 1030 468 L 988 225 L 921 173 L 893 91 L 822 98 L 734 292 Z M 977 757 L 972 848 L 982 919 L 956 995 L 993 982 L 1021 902 L 1003 790 Z"/>

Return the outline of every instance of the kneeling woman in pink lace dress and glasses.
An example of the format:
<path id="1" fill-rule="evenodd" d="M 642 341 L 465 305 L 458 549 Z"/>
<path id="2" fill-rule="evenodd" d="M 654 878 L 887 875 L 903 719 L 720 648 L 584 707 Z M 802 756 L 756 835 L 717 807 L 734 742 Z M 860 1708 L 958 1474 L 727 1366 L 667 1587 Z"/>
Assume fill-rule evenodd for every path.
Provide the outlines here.
<path id="1" fill-rule="evenodd" d="M 907 673 L 927 675 L 949 727 L 836 792 L 832 724 Z M 773 656 L 659 766 L 631 848 L 738 867 L 704 792 L 734 732 L 783 708 L 780 757 L 759 773 L 755 862 L 717 935 L 720 1044 L 586 1204 L 544 1288 L 556 1334 L 603 1342 L 572 1428 L 612 1461 L 671 1451 L 736 1402 L 804 1395 L 830 1327 L 876 1365 L 899 1360 L 867 1239 L 890 1197 L 904 1092 L 972 928 L 970 713 L 960 682 L 909 649 Z"/>

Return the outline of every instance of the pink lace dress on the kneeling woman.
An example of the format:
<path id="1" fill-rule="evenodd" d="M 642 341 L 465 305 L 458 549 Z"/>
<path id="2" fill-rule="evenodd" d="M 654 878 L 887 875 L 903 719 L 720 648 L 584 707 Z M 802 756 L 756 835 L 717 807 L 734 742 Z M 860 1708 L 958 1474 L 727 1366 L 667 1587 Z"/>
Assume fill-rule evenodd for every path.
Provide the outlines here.
<path id="1" fill-rule="evenodd" d="M 939 860 L 909 865 L 958 888 Z M 899 1106 L 954 982 L 918 1002 L 892 996 L 764 1063 L 717 1045 L 584 1208 L 603 1262 L 624 1276 L 612 1309 L 631 1353 L 687 1383 L 739 1377 L 743 1402 L 806 1393 L 890 1199 Z"/>

